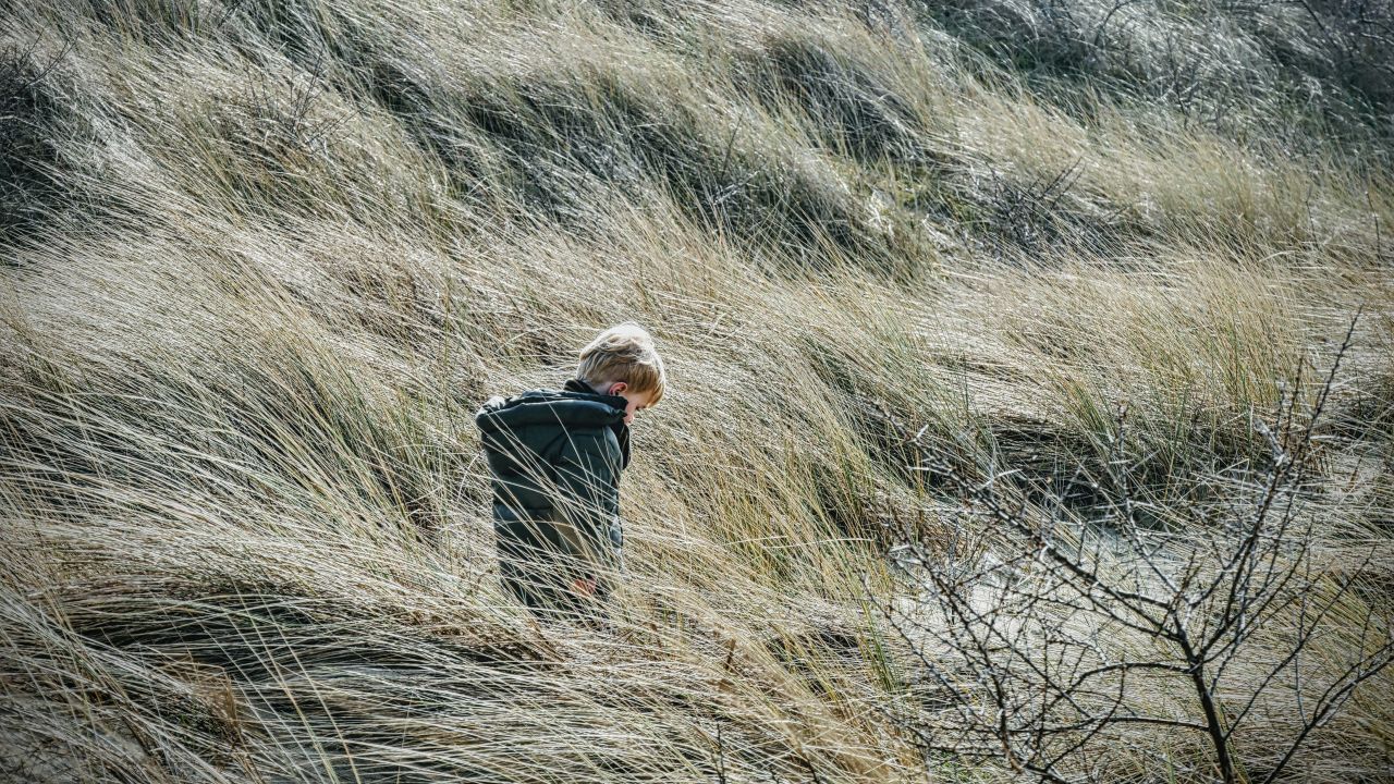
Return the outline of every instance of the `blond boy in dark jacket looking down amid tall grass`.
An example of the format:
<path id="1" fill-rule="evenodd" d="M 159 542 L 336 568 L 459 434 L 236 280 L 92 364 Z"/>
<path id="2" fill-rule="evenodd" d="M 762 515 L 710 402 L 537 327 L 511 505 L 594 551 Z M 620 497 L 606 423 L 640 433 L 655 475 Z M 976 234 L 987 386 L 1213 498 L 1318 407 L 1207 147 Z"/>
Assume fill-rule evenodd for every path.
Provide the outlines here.
<path id="1" fill-rule="evenodd" d="M 662 399 L 654 339 L 637 324 L 601 332 L 562 391 L 491 398 L 474 416 L 493 485 L 503 585 L 534 614 L 604 600 L 622 569 L 619 474 L 634 413 Z"/>

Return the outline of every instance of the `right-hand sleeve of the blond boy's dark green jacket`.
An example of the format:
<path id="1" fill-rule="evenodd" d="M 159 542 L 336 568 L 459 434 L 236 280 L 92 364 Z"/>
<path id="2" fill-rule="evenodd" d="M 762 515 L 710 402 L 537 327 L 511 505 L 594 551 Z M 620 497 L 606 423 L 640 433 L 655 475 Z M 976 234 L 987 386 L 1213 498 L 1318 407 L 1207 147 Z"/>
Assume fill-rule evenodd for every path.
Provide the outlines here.
<path id="1" fill-rule="evenodd" d="M 560 525 L 572 529 L 562 534 L 597 572 L 619 568 L 619 446 L 608 430 L 572 432 L 558 460 Z"/>

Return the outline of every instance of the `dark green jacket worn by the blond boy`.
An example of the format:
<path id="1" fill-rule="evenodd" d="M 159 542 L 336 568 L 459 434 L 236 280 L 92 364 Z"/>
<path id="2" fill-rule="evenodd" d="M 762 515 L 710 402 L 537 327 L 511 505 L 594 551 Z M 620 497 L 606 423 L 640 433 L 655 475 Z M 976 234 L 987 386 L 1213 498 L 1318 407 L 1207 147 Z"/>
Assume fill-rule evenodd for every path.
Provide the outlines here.
<path id="1" fill-rule="evenodd" d="M 493 532 L 506 578 L 534 565 L 560 565 L 567 578 L 619 569 L 625 406 L 625 398 L 572 379 L 562 391 L 491 398 L 474 416 L 493 477 Z"/>

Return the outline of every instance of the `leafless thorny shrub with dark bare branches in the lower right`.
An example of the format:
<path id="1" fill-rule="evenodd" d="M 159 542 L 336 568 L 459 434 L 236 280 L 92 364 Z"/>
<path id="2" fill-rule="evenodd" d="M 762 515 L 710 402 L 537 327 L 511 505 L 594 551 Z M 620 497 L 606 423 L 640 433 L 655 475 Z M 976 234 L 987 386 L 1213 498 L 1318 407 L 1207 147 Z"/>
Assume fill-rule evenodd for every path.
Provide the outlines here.
<path id="1" fill-rule="evenodd" d="M 1186 778 L 1278 780 L 1394 660 L 1370 558 L 1342 562 L 1322 537 L 1317 423 L 1349 346 L 1309 407 L 1298 384 L 1255 420 L 1269 467 L 1204 505 L 1149 504 L 1124 414 L 1092 520 L 930 453 L 920 467 L 962 497 L 959 523 L 995 530 L 972 552 L 906 530 L 894 551 L 916 601 L 882 611 L 928 679 L 901 727 L 927 755 L 1041 781 L 1103 780 L 1129 755 Z"/>

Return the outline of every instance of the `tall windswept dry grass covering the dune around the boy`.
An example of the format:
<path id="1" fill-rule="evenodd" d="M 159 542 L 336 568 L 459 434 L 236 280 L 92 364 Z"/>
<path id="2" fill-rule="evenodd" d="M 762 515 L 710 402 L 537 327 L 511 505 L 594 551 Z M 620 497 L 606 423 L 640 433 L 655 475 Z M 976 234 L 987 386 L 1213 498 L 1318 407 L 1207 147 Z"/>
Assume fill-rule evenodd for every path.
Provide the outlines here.
<path id="1" fill-rule="evenodd" d="M 916 437 L 1087 504 L 1126 403 L 1182 505 L 1262 469 L 1250 412 L 1361 306 L 1313 513 L 1387 569 L 1386 152 L 1327 103 L 1277 133 L 1277 77 L 1204 71 L 1257 98 L 1200 123 L 898 3 L 0 11 L 15 780 L 1009 777 L 903 732 L 882 548 L 953 527 Z M 1207 68 L 1303 67 L 1165 13 Z M 538 626 L 471 417 L 630 318 L 672 391 L 629 573 L 606 628 Z M 1299 769 L 1379 778 L 1388 686 Z"/>

